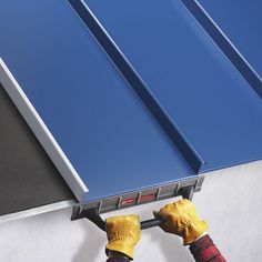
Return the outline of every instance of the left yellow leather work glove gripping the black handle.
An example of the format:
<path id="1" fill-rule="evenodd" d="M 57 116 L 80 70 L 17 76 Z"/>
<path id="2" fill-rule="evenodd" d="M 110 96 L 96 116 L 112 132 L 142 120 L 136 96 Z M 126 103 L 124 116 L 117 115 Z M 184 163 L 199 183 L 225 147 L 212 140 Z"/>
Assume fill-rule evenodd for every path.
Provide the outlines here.
<path id="1" fill-rule="evenodd" d="M 127 254 L 133 259 L 134 246 L 141 238 L 138 215 L 121 215 L 105 220 L 107 249 Z"/>

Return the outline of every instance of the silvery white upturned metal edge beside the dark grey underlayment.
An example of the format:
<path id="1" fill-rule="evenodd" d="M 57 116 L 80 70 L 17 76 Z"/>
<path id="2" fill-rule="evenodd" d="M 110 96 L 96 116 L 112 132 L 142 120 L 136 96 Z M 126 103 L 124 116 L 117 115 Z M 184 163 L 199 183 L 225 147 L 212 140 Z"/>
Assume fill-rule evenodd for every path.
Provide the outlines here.
<path id="1" fill-rule="evenodd" d="M 1 58 L 0 82 L 29 127 L 32 129 L 33 133 L 47 151 L 50 159 L 53 161 L 54 165 L 72 190 L 75 198 L 82 202 L 84 194 L 88 192 L 88 188 Z"/>

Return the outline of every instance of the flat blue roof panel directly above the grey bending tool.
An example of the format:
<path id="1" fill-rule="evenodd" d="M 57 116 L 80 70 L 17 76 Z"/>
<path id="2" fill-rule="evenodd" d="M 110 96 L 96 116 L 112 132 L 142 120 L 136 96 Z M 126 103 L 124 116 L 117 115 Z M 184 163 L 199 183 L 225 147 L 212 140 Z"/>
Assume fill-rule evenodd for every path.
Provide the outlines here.
<path id="1" fill-rule="evenodd" d="M 195 175 L 68 2 L 1 1 L 0 32 L 0 56 L 89 189 L 80 201 Z"/>

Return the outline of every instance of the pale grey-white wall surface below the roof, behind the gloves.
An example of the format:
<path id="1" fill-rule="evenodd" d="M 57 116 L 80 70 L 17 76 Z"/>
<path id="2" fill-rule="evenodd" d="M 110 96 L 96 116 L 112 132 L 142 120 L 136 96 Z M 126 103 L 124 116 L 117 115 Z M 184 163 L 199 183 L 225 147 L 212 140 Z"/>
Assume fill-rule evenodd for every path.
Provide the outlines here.
<path id="1" fill-rule="evenodd" d="M 152 211 L 173 201 L 108 213 Z M 231 262 L 262 261 L 262 161 L 209 173 L 193 202 L 209 223 L 209 233 Z M 70 221 L 71 209 L 0 224 L 0 262 L 104 262 L 107 238 L 88 220 Z M 178 236 L 144 230 L 135 250 L 138 262 L 194 261 Z"/>

